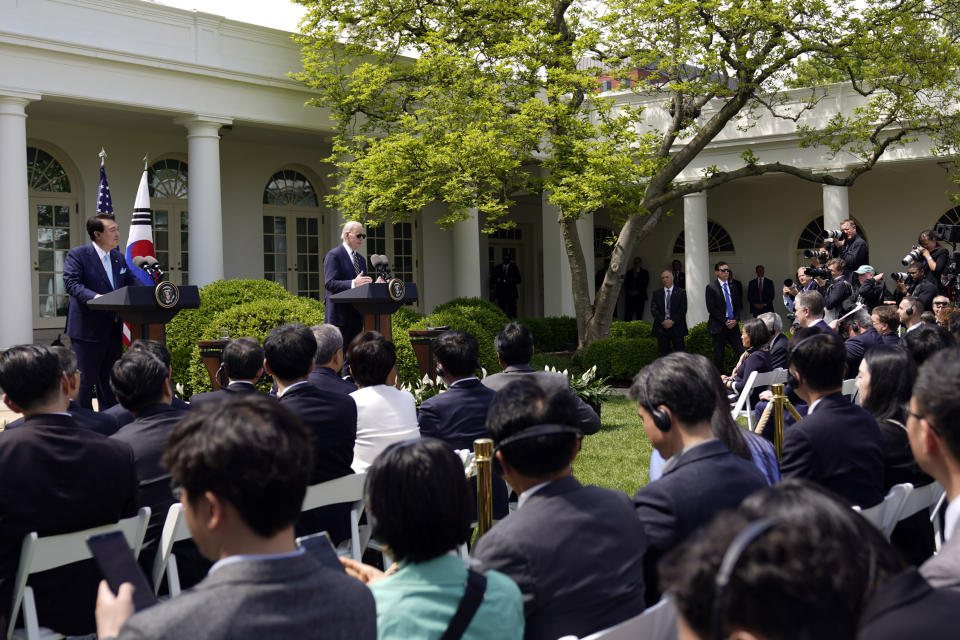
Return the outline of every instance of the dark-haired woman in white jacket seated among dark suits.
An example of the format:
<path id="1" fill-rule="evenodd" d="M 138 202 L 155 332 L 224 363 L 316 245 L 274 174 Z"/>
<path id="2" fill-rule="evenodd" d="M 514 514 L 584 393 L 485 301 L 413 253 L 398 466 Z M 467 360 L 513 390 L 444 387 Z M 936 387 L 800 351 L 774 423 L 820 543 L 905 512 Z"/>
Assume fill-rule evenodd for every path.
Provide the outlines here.
<path id="1" fill-rule="evenodd" d="M 347 350 L 350 371 L 359 389 L 350 394 L 357 403 L 357 443 L 353 469 L 366 471 L 373 459 L 394 442 L 419 438 L 417 403 L 408 391 L 387 384 L 397 364 L 393 343 L 376 331 L 361 333 Z"/>

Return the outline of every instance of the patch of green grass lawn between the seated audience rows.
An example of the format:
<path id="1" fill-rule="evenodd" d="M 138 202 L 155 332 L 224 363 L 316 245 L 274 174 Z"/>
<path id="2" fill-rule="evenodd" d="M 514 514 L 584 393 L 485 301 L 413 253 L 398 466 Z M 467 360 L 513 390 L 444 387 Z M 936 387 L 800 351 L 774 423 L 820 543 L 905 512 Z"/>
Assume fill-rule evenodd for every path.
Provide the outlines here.
<path id="1" fill-rule="evenodd" d="M 624 396 L 611 396 L 603 403 L 601 419 L 600 431 L 583 439 L 573 473 L 583 484 L 632 497 L 647 484 L 653 449 L 637 416 L 637 405 Z"/>

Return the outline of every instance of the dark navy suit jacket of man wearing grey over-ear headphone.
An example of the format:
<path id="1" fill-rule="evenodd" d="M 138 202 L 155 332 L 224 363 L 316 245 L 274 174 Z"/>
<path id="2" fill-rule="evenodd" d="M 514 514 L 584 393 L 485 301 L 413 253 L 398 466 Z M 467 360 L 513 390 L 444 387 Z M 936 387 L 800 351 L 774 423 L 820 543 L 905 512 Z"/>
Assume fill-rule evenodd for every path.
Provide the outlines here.
<path id="1" fill-rule="evenodd" d="M 674 461 L 674 458 L 676 460 Z M 647 606 L 660 599 L 657 563 L 725 509 L 767 486 L 753 462 L 738 458 L 719 440 L 708 440 L 670 458 L 664 474 L 633 496 L 647 534 L 643 557 Z"/>

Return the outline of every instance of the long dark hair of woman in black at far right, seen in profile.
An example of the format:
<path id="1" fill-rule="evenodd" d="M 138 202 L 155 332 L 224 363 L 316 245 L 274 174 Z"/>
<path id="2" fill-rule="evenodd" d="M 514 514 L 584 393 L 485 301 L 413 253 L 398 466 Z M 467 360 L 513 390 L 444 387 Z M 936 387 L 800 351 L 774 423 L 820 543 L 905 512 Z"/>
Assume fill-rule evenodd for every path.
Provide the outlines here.
<path id="1" fill-rule="evenodd" d="M 870 387 L 861 398 L 864 409 L 877 422 L 888 418 L 903 421 L 903 407 L 910 402 L 917 365 L 907 350 L 897 344 L 878 344 L 867 349 L 863 361 L 870 372 Z"/>

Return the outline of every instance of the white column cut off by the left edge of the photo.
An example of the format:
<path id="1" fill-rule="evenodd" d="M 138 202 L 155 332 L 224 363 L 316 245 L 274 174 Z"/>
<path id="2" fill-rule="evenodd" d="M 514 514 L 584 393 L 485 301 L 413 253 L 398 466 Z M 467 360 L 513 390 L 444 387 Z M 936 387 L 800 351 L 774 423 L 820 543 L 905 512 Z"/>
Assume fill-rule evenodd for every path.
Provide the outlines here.
<path id="1" fill-rule="evenodd" d="M 0 90 L 0 349 L 33 342 L 26 106 L 40 94 Z"/>

